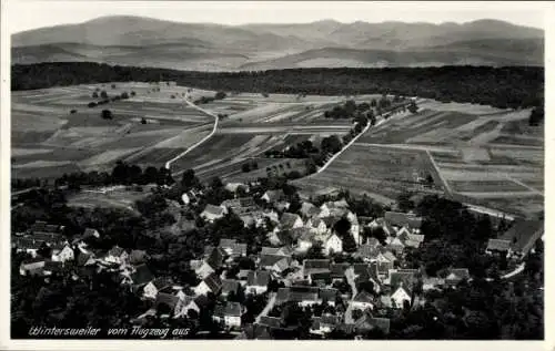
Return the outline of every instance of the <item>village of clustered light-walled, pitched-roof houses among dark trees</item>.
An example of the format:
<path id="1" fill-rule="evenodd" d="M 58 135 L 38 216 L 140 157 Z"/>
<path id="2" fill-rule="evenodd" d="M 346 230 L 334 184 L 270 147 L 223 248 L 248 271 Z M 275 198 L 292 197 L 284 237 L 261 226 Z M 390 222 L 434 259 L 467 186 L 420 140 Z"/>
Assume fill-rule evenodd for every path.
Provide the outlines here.
<path id="1" fill-rule="evenodd" d="M 179 262 L 194 276 L 194 285 L 154 275 L 149 250 L 91 247 L 103 236 L 97 228 L 68 238 L 63 226 L 46 221 L 14 234 L 12 249 L 27 255 L 19 273 L 40 277 L 44 286 L 57 275 L 78 281 L 109 273 L 144 303 L 144 310 L 129 317 L 132 326 L 144 326 L 152 318 L 199 326 L 210 306 L 220 332 L 236 339 L 286 338 L 301 326 L 314 339 L 386 337 L 392 320 L 426 306 L 433 291 L 456 290 L 473 279 L 468 267 L 451 266 L 432 276 L 411 265 L 407 257 L 426 242 L 421 230 L 425 218 L 414 210 L 393 206 L 382 216 L 369 217 L 356 214 L 336 190 L 319 200 L 292 204 L 281 188 L 258 194 L 249 185 L 225 188 L 232 198 L 196 208 L 199 220 L 211 225 L 239 217 L 244 227 L 265 233 L 265 245 L 225 237 L 218 245 L 205 245 L 202 255 Z M 191 188 L 180 202 L 167 203 L 181 223 L 194 227 L 195 221 L 179 214 L 204 204 L 203 196 Z M 517 219 L 503 235 L 491 238 L 483 254 L 507 261 L 502 278 L 513 277 L 523 271 L 524 257 L 541 237 L 543 221 Z M 251 303 L 245 302 L 249 299 Z"/>

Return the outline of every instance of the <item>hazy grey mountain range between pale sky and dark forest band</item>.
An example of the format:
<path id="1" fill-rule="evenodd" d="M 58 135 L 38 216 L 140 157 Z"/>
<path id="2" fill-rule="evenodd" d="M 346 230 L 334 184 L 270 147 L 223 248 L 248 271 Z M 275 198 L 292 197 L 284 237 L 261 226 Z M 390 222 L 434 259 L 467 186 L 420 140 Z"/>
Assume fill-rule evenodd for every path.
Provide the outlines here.
<path id="1" fill-rule="evenodd" d="M 11 39 L 12 63 L 93 61 L 208 71 L 544 64 L 543 30 L 497 20 L 222 25 L 117 16 Z"/>

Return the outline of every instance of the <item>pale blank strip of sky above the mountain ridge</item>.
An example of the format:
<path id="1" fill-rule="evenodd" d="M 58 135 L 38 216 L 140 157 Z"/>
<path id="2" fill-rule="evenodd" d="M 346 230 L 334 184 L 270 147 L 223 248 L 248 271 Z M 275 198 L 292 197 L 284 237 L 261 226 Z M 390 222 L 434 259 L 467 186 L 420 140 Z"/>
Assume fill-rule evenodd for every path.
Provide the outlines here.
<path id="1" fill-rule="evenodd" d="M 468 22 L 496 19 L 544 28 L 545 2 L 423 2 L 423 1 L 53 1 L 10 0 L 11 33 L 80 23 L 103 16 L 143 16 L 178 22 L 306 23 L 323 19 L 340 22 Z"/>

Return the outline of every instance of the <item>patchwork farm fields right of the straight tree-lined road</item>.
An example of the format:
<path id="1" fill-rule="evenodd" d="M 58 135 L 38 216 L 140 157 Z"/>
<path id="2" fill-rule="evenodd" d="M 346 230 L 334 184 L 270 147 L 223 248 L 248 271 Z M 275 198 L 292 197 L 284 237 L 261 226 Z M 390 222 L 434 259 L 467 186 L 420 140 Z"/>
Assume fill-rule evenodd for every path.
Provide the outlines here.
<path id="1" fill-rule="evenodd" d="M 387 203 L 404 188 L 430 193 L 411 184 L 412 172 L 430 172 L 448 197 L 533 217 L 544 202 L 544 135 L 527 125 L 528 114 L 424 101 L 416 114 L 370 128 L 324 172 L 295 184 L 307 195 L 335 186 Z"/>

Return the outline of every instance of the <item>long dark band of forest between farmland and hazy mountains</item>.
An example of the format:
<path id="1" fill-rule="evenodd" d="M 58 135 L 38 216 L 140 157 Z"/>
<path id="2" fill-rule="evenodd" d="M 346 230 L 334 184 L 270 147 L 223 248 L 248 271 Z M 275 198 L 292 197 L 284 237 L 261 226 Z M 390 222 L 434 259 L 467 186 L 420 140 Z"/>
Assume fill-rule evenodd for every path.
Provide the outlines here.
<path id="1" fill-rule="evenodd" d="M 175 81 L 179 85 L 199 89 L 256 93 L 390 93 L 502 109 L 539 105 L 544 97 L 544 69 L 537 66 L 292 69 L 222 73 L 56 62 L 16 64 L 11 73 L 13 91 L 124 81 Z"/>

